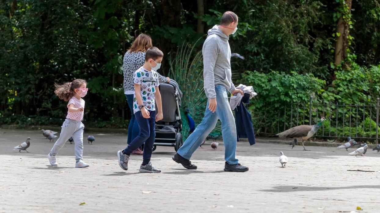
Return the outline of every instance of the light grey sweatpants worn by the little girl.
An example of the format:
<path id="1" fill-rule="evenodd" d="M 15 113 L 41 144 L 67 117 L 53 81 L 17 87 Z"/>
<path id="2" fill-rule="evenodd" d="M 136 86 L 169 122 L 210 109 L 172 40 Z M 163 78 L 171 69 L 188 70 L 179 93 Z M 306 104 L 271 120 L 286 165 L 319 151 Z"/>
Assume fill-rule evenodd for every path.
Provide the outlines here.
<path id="1" fill-rule="evenodd" d="M 53 148 L 50 151 L 50 155 L 57 155 L 58 151 L 65 145 L 66 141 L 73 137 L 74 139 L 74 153 L 75 160 L 78 162 L 82 160 L 83 154 L 83 129 L 84 125 L 81 121 L 71 120 L 66 118 L 62 124 L 62 130 L 58 140 L 55 142 Z"/>

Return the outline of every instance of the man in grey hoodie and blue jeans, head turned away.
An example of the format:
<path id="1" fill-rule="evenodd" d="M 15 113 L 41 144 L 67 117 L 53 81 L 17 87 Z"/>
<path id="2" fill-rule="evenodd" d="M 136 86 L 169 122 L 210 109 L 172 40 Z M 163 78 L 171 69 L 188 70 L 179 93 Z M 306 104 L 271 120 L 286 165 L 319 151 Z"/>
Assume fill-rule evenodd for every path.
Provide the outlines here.
<path id="1" fill-rule="evenodd" d="M 228 39 L 229 35 L 236 32 L 237 22 L 238 18 L 235 13 L 225 12 L 220 25 L 212 27 L 204 41 L 202 54 L 203 88 L 208 98 L 206 111 L 202 122 L 173 156 L 173 160 L 182 164 L 186 169 L 197 169 L 197 166 L 191 163 L 190 158 L 220 119 L 225 146 L 224 170 L 229 172 L 248 171 L 248 167 L 239 164 L 239 160 L 235 157 L 236 126 L 228 103 L 228 92 L 243 95 L 243 92 L 236 89 L 231 80 L 231 49 Z"/>

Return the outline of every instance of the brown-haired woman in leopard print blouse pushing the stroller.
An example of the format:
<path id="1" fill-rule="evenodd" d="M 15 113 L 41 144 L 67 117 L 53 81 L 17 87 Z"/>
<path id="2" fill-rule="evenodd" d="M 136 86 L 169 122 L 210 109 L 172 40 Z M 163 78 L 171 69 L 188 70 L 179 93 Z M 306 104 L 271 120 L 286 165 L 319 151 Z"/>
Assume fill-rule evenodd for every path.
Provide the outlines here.
<path id="1" fill-rule="evenodd" d="M 152 47 L 152 39 L 141 33 L 135 41 L 133 41 L 131 48 L 125 53 L 123 58 L 123 76 L 124 76 L 124 94 L 127 98 L 129 109 L 131 110 L 131 120 L 128 125 L 128 139 L 127 144 L 130 144 L 131 141 L 138 136 L 139 126 L 135 119 L 135 114 L 133 114 L 133 94 L 135 93 L 135 85 L 133 84 L 133 73 L 139 69 L 145 62 L 145 52 L 149 47 Z M 169 82 L 169 77 L 158 76 L 160 83 Z M 132 155 L 142 155 L 140 148 L 133 151 Z"/>

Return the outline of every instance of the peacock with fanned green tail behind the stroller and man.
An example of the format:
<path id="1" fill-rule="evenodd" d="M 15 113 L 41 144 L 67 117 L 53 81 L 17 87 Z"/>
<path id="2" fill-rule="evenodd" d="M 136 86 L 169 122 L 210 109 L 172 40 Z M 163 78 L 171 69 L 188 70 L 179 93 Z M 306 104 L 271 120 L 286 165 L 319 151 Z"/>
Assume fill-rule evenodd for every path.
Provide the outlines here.
<path id="1" fill-rule="evenodd" d="M 186 139 L 201 123 L 207 104 L 207 97 L 203 90 L 202 52 L 196 52 L 195 45 L 184 43 L 178 47 L 175 55 L 169 56 L 169 62 L 169 76 L 177 81 L 179 89 L 183 93 L 182 106 L 186 106 L 180 110 L 183 118 L 181 134 Z M 214 137 L 222 134 L 220 121 L 212 134 Z"/>

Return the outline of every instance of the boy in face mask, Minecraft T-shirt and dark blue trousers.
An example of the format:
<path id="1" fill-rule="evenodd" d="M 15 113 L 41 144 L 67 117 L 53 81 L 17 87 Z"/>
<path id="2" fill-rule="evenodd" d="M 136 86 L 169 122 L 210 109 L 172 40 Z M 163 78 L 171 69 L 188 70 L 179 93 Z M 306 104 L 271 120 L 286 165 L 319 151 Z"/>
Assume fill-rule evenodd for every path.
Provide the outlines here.
<path id="1" fill-rule="evenodd" d="M 135 94 L 133 97 L 133 112 L 140 128 L 140 134 L 132 140 L 129 146 L 117 152 L 119 166 L 128 170 L 131 153 L 144 144 L 144 154 L 139 172 L 158 173 L 161 170 L 152 166 L 150 157 L 155 140 L 155 121 L 162 119 L 161 94 L 158 90 L 158 73 L 156 72 L 163 58 L 163 53 L 157 47 L 150 47 L 145 53 L 145 63 L 134 74 Z M 157 101 L 157 110 L 155 109 Z"/>

